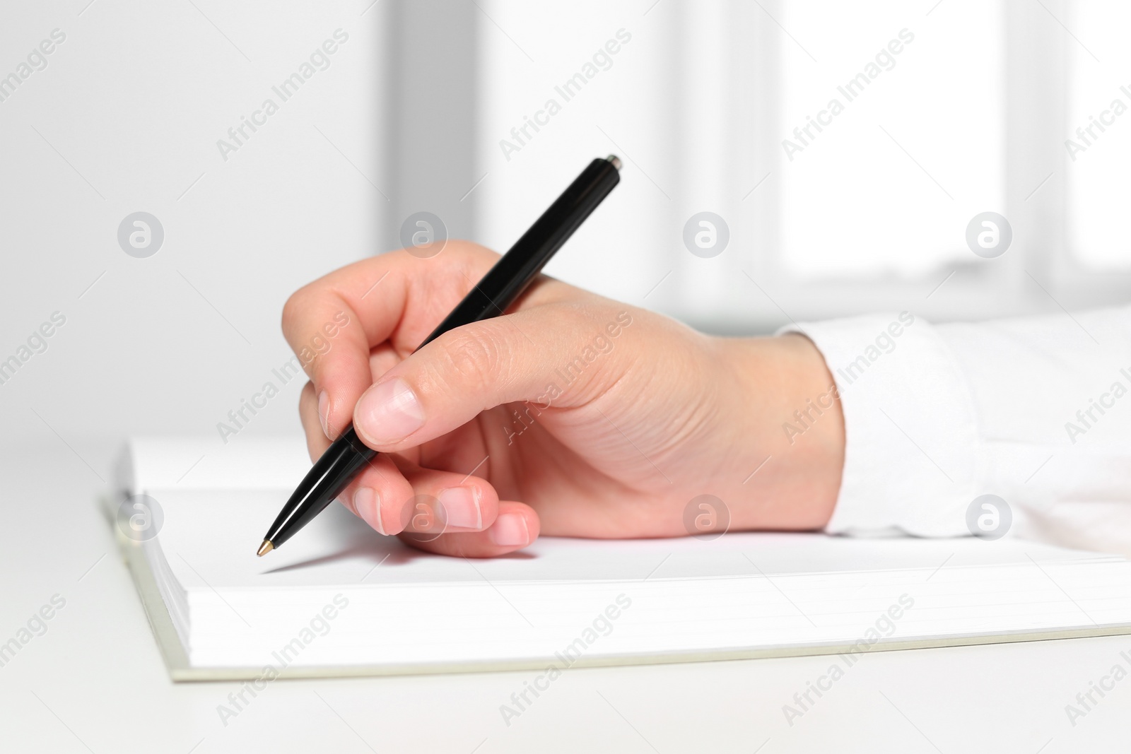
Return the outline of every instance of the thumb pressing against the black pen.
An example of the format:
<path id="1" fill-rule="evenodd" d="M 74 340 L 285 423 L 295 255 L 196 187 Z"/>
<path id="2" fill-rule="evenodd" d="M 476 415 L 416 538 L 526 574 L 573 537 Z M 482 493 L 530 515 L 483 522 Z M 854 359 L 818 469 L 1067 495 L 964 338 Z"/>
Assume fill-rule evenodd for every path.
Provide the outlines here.
<path id="1" fill-rule="evenodd" d="M 580 405 L 615 381 L 619 370 L 605 354 L 631 321 L 623 310 L 547 305 L 456 328 L 370 387 L 354 408 L 354 427 L 365 444 L 395 452 L 501 404 Z"/>

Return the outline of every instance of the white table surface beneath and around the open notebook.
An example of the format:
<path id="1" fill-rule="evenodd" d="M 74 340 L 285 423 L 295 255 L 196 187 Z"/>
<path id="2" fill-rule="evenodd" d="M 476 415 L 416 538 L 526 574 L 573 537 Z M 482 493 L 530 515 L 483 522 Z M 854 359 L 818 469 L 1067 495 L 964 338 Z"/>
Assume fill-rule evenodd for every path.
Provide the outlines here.
<path id="1" fill-rule="evenodd" d="M 66 607 L 0 667 L 3 752 L 1126 751 L 1131 678 L 1073 726 L 1131 636 L 865 656 L 801 718 L 783 705 L 834 658 L 575 669 L 506 725 L 530 673 L 278 681 L 225 726 L 238 683 L 173 684 L 96 506 L 114 448 L 58 442 L 0 461 L 0 642 Z M 83 459 L 86 459 L 85 461 Z M 89 463 L 89 467 L 87 466 Z M 90 468 L 93 467 L 93 469 Z M 1108 685 L 1111 685 L 1108 683 Z"/>

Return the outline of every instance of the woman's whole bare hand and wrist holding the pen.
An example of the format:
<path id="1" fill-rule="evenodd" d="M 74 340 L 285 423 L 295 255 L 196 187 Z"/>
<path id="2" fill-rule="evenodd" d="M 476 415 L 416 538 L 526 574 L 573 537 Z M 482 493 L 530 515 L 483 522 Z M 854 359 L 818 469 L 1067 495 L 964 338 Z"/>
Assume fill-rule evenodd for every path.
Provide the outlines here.
<path id="1" fill-rule="evenodd" d="M 381 451 L 339 497 L 349 510 L 470 557 L 539 532 L 685 536 L 697 517 L 719 530 L 824 526 L 844 419 L 827 399 L 812 421 L 808 401 L 832 379 L 808 339 L 714 338 L 539 276 L 506 315 L 414 354 L 498 259 L 456 241 L 431 259 L 398 251 L 287 301 L 283 331 L 311 379 L 300 399 L 311 457 L 349 422 Z M 795 410 L 810 411 L 809 428 L 788 436 Z M 726 510 L 697 502 L 685 517 L 705 494 Z"/>

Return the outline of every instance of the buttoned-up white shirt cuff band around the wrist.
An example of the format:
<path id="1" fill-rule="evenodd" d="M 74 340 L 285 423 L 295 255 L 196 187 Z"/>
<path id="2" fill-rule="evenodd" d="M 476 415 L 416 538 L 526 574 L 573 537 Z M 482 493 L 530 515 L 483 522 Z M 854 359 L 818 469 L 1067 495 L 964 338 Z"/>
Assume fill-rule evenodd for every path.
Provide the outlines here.
<path id="1" fill-rule="evenodd" d="M 824 356 L 845 417 L 840 494 L 826 530 L 969 535 L 986 459 L 966 378 L 938 331 L 908 312 L 794 324 Z"/>

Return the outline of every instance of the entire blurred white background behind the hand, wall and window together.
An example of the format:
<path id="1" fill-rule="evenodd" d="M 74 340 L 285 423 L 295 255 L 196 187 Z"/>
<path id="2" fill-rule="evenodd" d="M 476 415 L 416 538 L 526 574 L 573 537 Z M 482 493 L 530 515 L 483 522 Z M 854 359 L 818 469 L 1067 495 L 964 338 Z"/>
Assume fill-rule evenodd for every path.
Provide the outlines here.
<path id="1" fill-rule="evenodd" d="M 5 441 L 68 456 L 95 437 L 215 433 L 277 381 L 296 287 L 392 248 L 417 210 L 503 251 L 610 153 L 622 184 L 549 271 L 710 330 L 1125 302 L 1131 115 L 1077 161 L 1064 147 L 1110 98 L 1131 104 L 1125 15 L 1114 0 L 6 8 L 0 77 L 53 29 L 66 40 L 0 89 L 0 361 L 53 312 L 66 324 L 0 384 Z M 898 64 L 791 162 L 793 125 L 905 27 Z M 338 28 L 329 68 L 224 159 L 217 140 Z M 554 87 L 590 63 L 566 102 Z M 551 98 L 561 111 L 504 154 Z M 965 248 L 979 208 L 1013 223 L 1000 259 Z M 165 232 L 148 259 L 118 243 L 138 210 Z M 711 259 L 682 240 L 702 210 L 731 232 Z M 295 428 L 299 388 L 247 431 Z"/>

